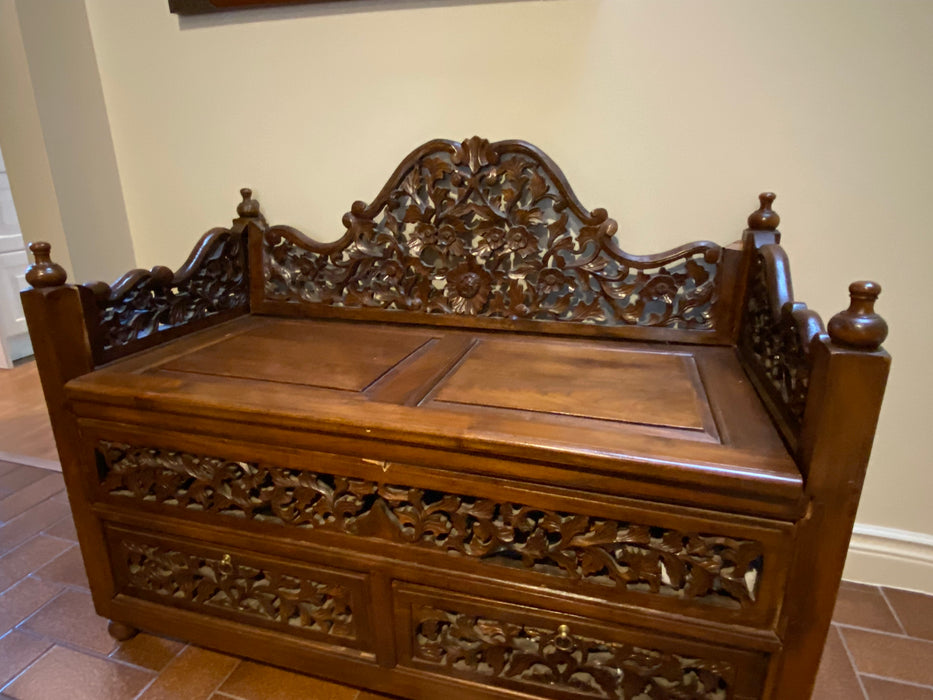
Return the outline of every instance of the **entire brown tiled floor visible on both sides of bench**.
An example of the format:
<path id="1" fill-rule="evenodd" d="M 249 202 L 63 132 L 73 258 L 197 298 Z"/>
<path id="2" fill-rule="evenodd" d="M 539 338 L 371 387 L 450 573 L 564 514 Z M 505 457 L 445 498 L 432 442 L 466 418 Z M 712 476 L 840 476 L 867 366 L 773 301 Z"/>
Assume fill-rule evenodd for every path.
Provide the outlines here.
<path id="1" fill-rule="evenodd" d="M 61 475 L 0 462 L 0 697 L 376 700 L 182 642 L 115 642 L 91 605 Z M 816 700 L 933 700 L 933 596 L 844 583 Z"/>

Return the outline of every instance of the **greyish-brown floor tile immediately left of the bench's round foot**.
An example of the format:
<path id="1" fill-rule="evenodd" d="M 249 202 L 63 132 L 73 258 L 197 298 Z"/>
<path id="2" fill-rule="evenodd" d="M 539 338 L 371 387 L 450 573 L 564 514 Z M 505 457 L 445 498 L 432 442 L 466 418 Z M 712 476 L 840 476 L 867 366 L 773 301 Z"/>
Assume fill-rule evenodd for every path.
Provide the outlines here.
<path id="1" fill-rule="evenodd" d="M 107 620 L 94 612 L 91 595 L 83 591 L 66 590 L 20 629 L 99 654 L 109 654 L 117 647 L 116 640 L 107 633 Z"/>

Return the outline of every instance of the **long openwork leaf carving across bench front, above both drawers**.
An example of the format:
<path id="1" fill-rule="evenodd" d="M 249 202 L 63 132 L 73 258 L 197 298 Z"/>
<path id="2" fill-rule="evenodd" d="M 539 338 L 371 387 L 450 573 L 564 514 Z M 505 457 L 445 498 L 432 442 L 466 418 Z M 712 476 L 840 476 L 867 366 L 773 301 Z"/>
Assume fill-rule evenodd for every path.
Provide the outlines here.
<path id="1" fill-rule="evenodd" d="M 588 584 L 751 607 L 761 543 L 403 485 L 102 442 L 102 489 L 165 506 L 377 537 Z"/>

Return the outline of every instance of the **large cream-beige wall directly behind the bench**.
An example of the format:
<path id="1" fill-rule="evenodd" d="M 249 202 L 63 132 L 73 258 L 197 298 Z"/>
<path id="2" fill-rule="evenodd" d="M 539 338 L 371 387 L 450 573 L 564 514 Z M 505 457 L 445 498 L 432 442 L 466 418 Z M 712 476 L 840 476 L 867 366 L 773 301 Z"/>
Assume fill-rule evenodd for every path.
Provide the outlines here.
<path id="1" fill-rule="evenodd" d="M 433 137 L 524 138 L 632 252 L 729 242 L 779 194 L 798 298 L 884 286 L 888 398 L 859 521 L 933 534 L 933 3 L 379 0 L 180 21 L 87 0 L 138 262 L 177 265 L 251 185 L 341 233 Z"/>

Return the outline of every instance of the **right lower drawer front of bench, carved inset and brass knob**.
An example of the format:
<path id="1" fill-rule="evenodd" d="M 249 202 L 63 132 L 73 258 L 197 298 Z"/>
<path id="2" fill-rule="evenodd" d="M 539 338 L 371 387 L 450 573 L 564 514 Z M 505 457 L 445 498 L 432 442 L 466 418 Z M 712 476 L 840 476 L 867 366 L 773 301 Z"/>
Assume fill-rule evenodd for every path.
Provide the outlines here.
<path id="1" fill-rule="evenodd" d="M 758 697 L 767 659 L 525 606 L 396 584 L 399 664 L 535 698 Z"/>

